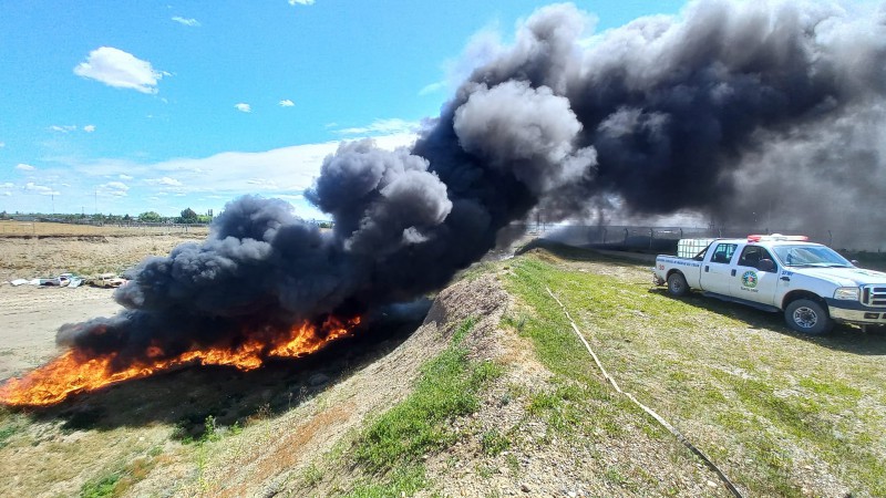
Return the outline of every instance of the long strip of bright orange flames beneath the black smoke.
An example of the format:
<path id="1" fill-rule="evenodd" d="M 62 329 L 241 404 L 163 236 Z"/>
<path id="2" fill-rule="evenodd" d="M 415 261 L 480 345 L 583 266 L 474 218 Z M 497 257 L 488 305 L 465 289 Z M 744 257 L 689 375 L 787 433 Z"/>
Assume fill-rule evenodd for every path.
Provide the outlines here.
<path id="1" fill-rule="evenodd" d="M 49 406 L 74 393 L 95 391 L 110 384 L 142 378 L 194 363 L 228 365 L 241 371 L 255 370 L 269 357 L 300 357 L 311 354 L 330 341 L 347 335 L 359 324 L 359 317 L 347 321 L 329 317 L 319 328 L 308 322 L 293 325 L 272 343 L 251 338 L 234 349 L 194 350 L 167 360 L 158 360 L 163 350 L 151 346 L 146 356 L 155 360 L 134 363 L 117 372 L 111 369 L 116 353 L 89 359 L 76 350 L 69 350 L 21 378 L 7 381 L 0 386 L 0 403 L 10 406 Z"/>

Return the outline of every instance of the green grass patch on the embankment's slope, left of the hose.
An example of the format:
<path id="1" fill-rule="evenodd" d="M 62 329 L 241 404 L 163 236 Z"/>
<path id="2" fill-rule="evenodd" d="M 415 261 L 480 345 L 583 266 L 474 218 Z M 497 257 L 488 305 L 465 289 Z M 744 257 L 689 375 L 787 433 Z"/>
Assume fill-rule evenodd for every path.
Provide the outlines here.
<path id="1" fill-rule="evenodd" d="M 409 397 L 359 436 L 353 452 L 357 463 L 387 481 L 356 488 L 348 496 L 391 496 L 382 492 L 390 489 L 413 492 L 414 486 L 424 483 L 424 467 L 414 463 L 459 439 L 447 421 L 475 412 L 482 390 L 502 373 L 495 363 L 468 359 L 462 342 L 475 323 L 474 319 L 462 323 L 451 345 L 422 367 Z"/>

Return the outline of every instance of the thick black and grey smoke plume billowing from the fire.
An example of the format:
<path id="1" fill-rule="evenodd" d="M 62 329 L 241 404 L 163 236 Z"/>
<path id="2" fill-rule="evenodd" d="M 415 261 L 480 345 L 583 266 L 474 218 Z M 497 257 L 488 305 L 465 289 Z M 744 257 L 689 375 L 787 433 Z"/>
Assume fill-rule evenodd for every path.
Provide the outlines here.
<path id="1" fill-rule="evenodd" d="M 65 326 L 59 342 L 125 363 L 150 345 L 236 346 L 247 330 L 410 300 L 539 207 L 548 219 L 619 209 L 734 221 L 765 205 L 845 225 L 862 203 L 882 227 L 884 19 L 701 1 L 588 37 L 575 7 L 540 9 L 411 151 L 365 141 L 326 158 L 308 197 L 332 232 L 282 201 L 237 199 L 205 242 L 142 262 L 115 294 L 126 311 Z M 845 204 L 824 209 L 834 190 Z"/>

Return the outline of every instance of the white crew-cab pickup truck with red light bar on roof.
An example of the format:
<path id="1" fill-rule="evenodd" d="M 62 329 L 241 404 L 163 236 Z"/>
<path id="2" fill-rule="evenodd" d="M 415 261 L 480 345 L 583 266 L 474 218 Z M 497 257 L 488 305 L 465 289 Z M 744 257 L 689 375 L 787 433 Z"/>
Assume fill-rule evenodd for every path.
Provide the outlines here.
<path id="1" fill-rule="evenodd" d="M 694 257 L 660 255 L 655 283 L 684 295 L 691 289 L 766 311 L 784 312 L 805 334 L 827 333 L 835 321 L 886 324 L 886 273 L 855 267 L 803 236 L 715 239 Z"/>

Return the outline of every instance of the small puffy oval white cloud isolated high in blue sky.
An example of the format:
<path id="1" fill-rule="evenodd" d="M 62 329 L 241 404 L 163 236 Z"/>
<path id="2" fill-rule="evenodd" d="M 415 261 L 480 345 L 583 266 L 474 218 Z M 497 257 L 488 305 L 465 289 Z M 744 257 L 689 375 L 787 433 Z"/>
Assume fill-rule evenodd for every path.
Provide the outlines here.
<path id="1" fill-rule="evenodd" d="M 157 93 L 157 81 L 164 74 L 168 75 L 154 70 L 150 62 L 113 46 L 101 46 L 90 52 L 86 61 L 74 68 L 74 74 L 142 93 Z"/>

